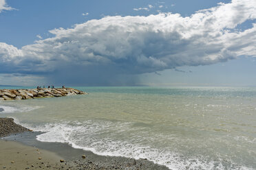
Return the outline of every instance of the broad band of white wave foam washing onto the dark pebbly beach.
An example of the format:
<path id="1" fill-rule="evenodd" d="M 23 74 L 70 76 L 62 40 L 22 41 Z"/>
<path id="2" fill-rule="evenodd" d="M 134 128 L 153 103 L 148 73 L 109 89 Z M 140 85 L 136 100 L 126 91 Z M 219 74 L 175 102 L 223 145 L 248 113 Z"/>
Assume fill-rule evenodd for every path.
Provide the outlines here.
<path id="1" fill-rule="evenodd" d="M 25 125 L 25 124 L 23 124 Z M 172 151 L 171 148 L 154 148 L 150 145 L 138 143 L 138 138 L 134 138 L 134 143 L 122 141 L 114 138 L 109 131 L 116 130 L 122 133 L 124 129 L 131 128 L 130 123 L 111 123 L 108 121 L 86 121 L 86 122 L 62 122 L 48 123 L 45 125 L 25 125 L 34 131 L 45 132 L 36 137 L 42 142 L 68 143 L 77 149 L 92 151 L 101 156 L 124 156 L 127 158 L 147 158 L 156 164 L 165 165 L 169 169 L 250 169 L 233 162 L 222 165 L 222 159 L 212 160 L 204 156 L 186 156 Z M 134 127 L 132 127 L 134 128 Z M 105 135 L 106 133 L 109 133 Z M 143 140 L 149 136 L 140 136 Z M 136 141 L 137 140 L 137 141 Z"/>

